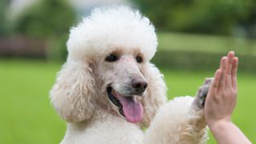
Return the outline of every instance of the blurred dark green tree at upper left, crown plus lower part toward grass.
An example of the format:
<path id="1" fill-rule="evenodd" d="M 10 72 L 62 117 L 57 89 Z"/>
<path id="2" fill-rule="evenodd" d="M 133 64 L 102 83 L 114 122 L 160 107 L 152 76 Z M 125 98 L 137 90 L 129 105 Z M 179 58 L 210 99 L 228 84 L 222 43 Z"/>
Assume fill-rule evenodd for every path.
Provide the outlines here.
<path id="1" fill-rule="evenodd" d="M 50 58 L 66 57 L 66 40 L 76 14 L 66 0 L 41 0 L 25 9 L 14 22 L 15 34 L 45 39 Z"/>

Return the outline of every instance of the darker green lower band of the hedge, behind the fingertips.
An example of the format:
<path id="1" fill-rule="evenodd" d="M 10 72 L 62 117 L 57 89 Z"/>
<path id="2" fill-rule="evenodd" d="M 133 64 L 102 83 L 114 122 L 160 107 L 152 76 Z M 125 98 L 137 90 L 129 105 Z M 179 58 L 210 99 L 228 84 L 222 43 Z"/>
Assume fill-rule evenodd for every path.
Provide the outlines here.
<path id="1" fill-rule="evenodd" d="M 226 53 L 160 49 L 152 62 L 157 66 L 178 70 L 217 70 L 223 55 Z M 254 55 L 237 54 L 237 56 L 239 58 L 239 71 L 256 72 L 256 57 Z"/>

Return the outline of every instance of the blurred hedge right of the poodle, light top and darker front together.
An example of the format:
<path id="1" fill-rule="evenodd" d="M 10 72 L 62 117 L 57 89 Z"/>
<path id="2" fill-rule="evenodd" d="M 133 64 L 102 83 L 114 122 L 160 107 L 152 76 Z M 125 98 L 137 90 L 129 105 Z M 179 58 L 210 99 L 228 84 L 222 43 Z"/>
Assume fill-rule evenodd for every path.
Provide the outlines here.
<path id="1" fill-rule="evenodd" d="M 158 33 L 158 51 L 152 62 L 157 66 L 179 70 L 218 68 L 219 60 L 234 50 L 239 70 L 256 71 L 256 41 L 205 34 Z"/>

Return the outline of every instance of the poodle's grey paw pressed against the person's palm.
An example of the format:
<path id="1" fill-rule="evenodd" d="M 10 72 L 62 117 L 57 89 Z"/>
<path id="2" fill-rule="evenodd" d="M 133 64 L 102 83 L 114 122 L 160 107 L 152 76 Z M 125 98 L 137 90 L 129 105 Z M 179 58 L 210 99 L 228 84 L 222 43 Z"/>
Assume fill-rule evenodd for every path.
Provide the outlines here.
<path id="1" fill-rule="evenodd" d="M 203 108 L 205 106 L 206 95 L 208 94 L 208 90 L 210 89 L 213 79 L 214 78 L 206 78 L 204 84 L 199 87 L 194 98 L 194 105 L 198 106 L 199 108 Z"/>

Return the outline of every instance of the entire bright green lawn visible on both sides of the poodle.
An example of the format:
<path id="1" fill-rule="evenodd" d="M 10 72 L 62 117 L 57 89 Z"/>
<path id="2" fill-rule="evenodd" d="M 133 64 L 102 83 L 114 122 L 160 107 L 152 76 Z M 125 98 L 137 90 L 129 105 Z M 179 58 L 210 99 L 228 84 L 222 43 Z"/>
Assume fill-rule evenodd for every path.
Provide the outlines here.
<path id="1" fill-rule="evenodd" d="M 49 90 L 60 63 L 0 59 L 0 143 L 58 143 L 66 126 L 50 106 Z M 211 72 L 163 69 L 168 95 L 194 95 Z M 256 142 L 256 75 L 238 75 L 238 105 L 233 120 Z M 216 143 L 214 138 L 210 142 Z"/>

